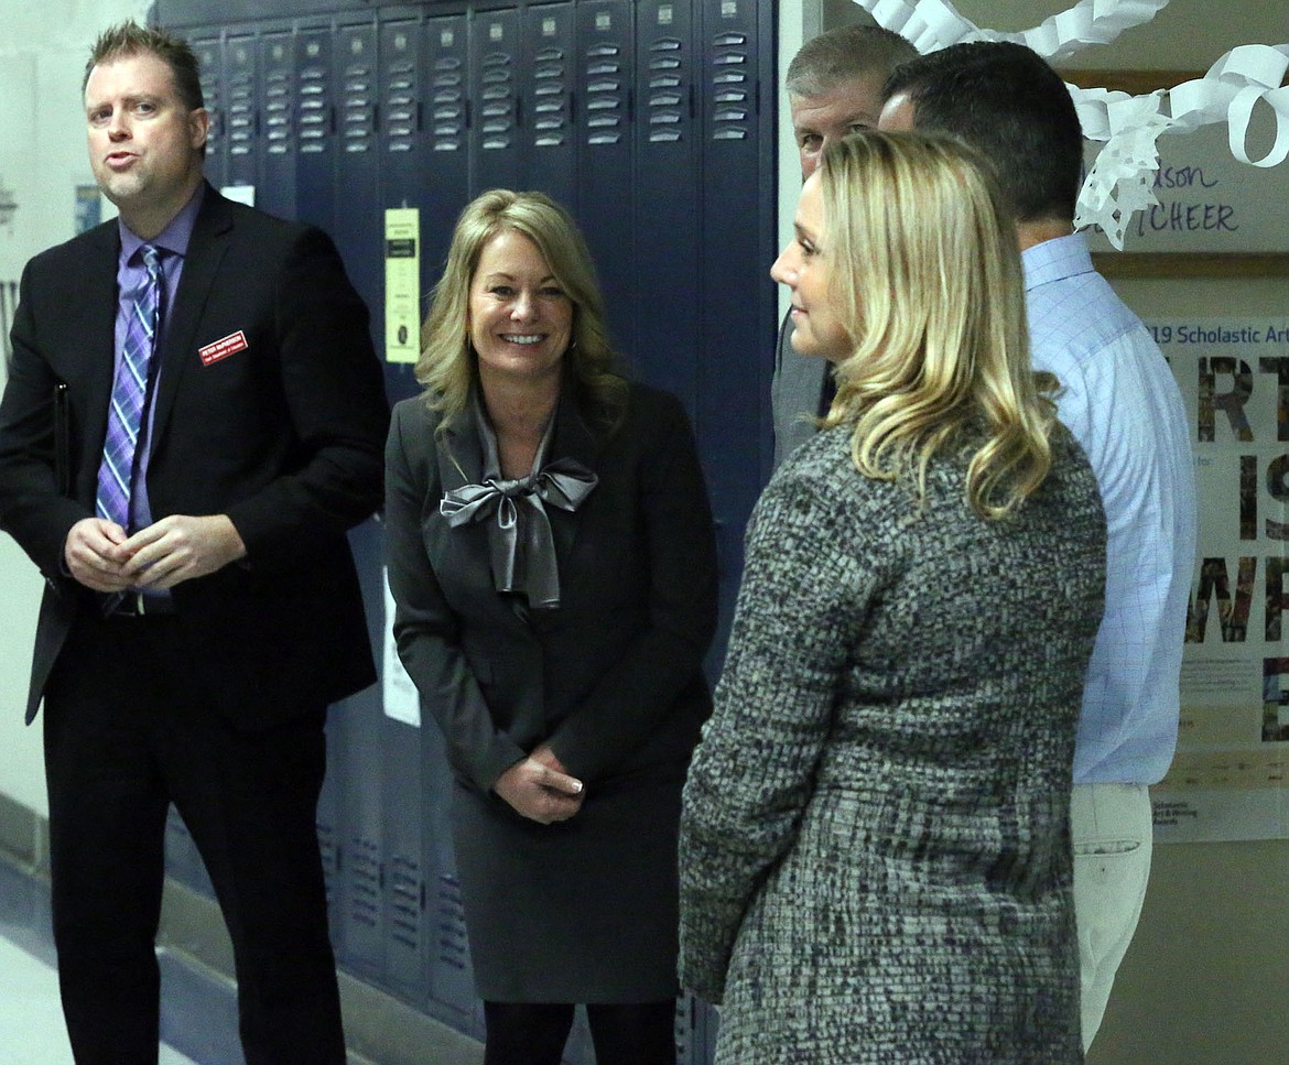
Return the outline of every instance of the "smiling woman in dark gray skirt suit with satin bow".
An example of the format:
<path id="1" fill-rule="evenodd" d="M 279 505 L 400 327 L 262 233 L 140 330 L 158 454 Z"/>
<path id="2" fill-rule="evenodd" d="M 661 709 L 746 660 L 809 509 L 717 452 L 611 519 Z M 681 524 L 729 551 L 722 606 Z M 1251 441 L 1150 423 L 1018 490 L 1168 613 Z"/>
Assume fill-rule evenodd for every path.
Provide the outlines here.
<path id="1" fill-rule="evenodd" d="M 712 514 L 674 397 L 614 361 L 539 193 L 461 214 L 387 450 L 400 655 L 442 727 L 486 1061 L 674 1061 L 681 785 L 710 712 Z"/>

